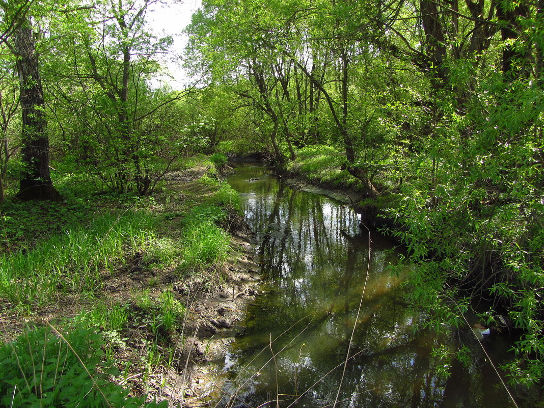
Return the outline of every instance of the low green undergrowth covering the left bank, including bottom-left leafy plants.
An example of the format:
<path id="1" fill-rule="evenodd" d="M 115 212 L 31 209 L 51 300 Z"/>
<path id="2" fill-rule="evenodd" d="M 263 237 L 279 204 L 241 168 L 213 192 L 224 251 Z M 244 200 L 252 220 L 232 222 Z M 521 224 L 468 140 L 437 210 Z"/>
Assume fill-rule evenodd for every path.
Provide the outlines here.
<path id="1" fill-rule="evenodd" d="M 236 191 L 219 180 L 215 164 L 222 157 L 186 162 L 181 168 L 207 170 L 179 190 L 91 195 L 83 190 L 96 194 L 92 186 L 70 186 L 79 177 L 71 172 L 55 175 L 65 183 L 59 187 L 64 202 L 8 200 L 0 207 L 0 306 L 14 321 L 55 310 L 52 321 L 66 332 L 61 338 L 41 327 L 4 344 L 0 406 L 140 407 L 145 396 L 128 398 L 123 387 L 156 391 L 146 381 L 172 367 L 176 336 L 185 344 L 185 300 L 176 288 L 190 280 L 222 281 L 233 254 L 224 228 L 242 214 Z M 117 281 L 112 298 L 106 287 Z M 57 305 L 66 298 L 75 318 Z M 123 372 L 114 373 L 110 360 Z"/>

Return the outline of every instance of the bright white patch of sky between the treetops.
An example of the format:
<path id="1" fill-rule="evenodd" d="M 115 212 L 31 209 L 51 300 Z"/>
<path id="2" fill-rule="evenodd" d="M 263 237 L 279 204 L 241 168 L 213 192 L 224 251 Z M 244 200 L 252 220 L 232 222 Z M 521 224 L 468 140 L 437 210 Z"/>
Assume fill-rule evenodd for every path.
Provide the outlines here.
<path id="1" fill-rule="evenodd" d="M 147 12 L 147 21 L 153 32 L 158 36 L 171 35 L 174 39 L 170 53 L 161 58 L 166 72 L 154 80 L 152 86 L 169 84 L 172 89 L 181 90 L 189 83 L 188 73 L 182 66 L 182 54 L 187 45 L 188 36 L 182 32 L 200 6 L 201 0 L 167 1 L 163 4 L 155 4 L 153 9 Z"/>

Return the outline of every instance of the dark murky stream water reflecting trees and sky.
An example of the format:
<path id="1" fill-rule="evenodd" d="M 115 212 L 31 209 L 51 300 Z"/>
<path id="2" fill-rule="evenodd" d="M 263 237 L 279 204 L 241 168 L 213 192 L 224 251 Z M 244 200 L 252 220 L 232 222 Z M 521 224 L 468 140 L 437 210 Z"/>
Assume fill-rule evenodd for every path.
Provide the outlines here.
<path id="1" fill-rule="evenodd" d="M 398 256 L 391 240 L 373 232 L 369 253 L 357 214 L 328 197 L 292 190 L 267 171 L 241 166 L 228 179 L 260 243 L 268 293 L 250 306 L 245 331 L 231 345 L 224 388 L 236 399 L 224 397 L 221 406 L 332 404 L 367 264 L 337 406 L 509 406 L 478 358 L 468 368 L 453 363 L 449 379 L 437 375 L 432 347 L 453 347 L 452 339 L 416 330 L 423 317 L 402 301 L 402 276 L 386 271 Z"/>

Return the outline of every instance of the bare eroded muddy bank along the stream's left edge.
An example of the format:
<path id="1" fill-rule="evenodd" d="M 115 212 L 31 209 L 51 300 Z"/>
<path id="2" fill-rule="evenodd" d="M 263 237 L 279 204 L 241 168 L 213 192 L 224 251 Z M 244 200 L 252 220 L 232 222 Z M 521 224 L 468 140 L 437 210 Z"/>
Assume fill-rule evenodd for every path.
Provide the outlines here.
<path id="1" fill-rule="evenodd" d="M 209 394 L 221 395 L 215 374 L 221 372 L 228 345 L 243 329 L 239 322 L 246 305 L 259 293 L 261 278 L 252 245 L 244 236 L 235 237 L 234 242 L 240 251 L 236 261 L 228 265 L 226 281 L 212 290 L 197 290 L 188 308 L 184 330 L 192 335 L 182 351 L 180 363 L 184 367 L 175 370 L 186 374 L 175 387 L 163 390 L 163 397 L 172 401 L 180 402 L 184 397 L 186 407 L 207 406 Z M 189 293 L 190 285 L 181 290 Z"/>

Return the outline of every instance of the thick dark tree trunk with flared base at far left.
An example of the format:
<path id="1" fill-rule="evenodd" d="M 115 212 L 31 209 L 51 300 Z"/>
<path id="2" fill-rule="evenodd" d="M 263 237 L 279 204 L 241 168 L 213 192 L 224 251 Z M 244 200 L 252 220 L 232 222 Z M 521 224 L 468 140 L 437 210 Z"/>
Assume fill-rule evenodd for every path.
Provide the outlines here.
<path id="1" fill-rule="evenodd" d="M 45 118 L 44 93 L 38 70 L 38 54 L 28 18 L 25 18 L 14 35 L 14 52 L 17 58 L 22 111 L 21 174 L 17 198 L 21 200 L 61 199 L 53 187 L 49 172 L 49 139 Z"/>

